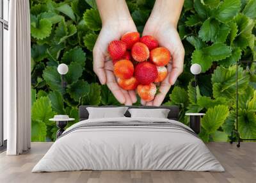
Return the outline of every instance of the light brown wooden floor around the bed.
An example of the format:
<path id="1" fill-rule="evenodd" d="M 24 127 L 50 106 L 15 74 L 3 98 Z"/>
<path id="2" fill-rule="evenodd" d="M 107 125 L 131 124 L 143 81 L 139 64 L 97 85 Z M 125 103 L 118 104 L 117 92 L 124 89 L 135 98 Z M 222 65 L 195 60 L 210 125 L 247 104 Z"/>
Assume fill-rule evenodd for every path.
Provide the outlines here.
<path id="1" fill-rule="evenodd" d="M 0 154 L 0 182 L 256 182 L 256 143 L 208 143 L 207 147 L 224 166 L 225 172 L 194 171 L 65 171 L 31 173 L 31 169 L 52 143 L 32 143 L 31 150 L 18 156 Z"/>

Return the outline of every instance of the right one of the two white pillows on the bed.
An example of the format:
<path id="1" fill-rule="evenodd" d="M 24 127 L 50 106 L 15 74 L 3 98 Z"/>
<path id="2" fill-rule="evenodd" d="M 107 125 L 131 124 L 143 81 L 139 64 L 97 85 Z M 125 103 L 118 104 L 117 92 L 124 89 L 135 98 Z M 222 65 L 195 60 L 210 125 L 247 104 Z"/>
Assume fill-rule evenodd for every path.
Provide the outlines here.
<path id="1" fill-rule="evenodd" d="M 170 109 L 128 109 L 131 113 L 131 118 L 167 118 Z"/>

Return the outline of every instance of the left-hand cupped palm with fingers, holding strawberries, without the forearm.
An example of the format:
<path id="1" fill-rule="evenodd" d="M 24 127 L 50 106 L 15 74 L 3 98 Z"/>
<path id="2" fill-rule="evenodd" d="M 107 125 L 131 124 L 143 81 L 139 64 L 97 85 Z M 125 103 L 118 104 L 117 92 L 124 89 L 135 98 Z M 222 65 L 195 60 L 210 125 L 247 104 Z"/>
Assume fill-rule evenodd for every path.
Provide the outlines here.
<path id="1" fill-rule="evenodd" d="M 101 84 L 107 84 L 109 90 L 121 104 L 132 105 L 136 102 L 134 90 L 123 90 L 116 83 L 113 74 L 113 62 L 109 58 L 108 44 L 113 40 L 119 40 L 124 33 L 137 31 L 132 20 L 109 21 L 102 25 L 102 29 L 93 47 L 93 71 L 99 77 Z"/>

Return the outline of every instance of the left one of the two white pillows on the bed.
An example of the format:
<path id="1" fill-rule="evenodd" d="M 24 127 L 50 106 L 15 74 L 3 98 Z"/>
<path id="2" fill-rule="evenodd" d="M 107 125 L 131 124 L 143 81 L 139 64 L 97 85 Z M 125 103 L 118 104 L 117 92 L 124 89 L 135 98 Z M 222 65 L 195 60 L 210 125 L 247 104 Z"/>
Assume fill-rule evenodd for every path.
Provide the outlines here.
<path id="1" fill-rule="evenodd" d="M 125 117 L 124 114 L 128 107 L 86 107 L 89 119 L 95 118 L 119 118 Z"/>

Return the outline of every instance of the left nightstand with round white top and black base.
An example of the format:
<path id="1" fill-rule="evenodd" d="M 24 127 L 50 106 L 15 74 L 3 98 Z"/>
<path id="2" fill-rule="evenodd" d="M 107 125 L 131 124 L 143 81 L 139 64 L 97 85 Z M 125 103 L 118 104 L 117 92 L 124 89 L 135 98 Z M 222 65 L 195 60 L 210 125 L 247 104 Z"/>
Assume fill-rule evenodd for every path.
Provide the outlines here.
<path id="1" fill-rule="evenodd" d="M 69 118 L 68 115 L 55 115 L 54 118 L 49 119 L 50 121 L 56 122 L 59 130 L 56 132 L 56 137 L 58 138 L 65 131 L 65 127 L 67 123 L 70 121 L 74 121 L 74 118 Z"/>

